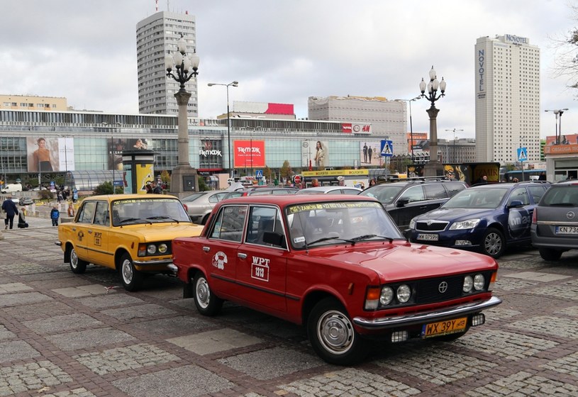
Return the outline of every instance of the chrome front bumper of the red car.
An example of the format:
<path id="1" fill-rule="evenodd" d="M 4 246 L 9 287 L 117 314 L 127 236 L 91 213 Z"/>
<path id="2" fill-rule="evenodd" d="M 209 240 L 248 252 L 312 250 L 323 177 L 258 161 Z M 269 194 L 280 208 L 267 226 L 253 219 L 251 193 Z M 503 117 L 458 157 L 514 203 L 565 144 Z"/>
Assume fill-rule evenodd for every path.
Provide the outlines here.
<path id="1" fill-rule="evenodd" d="M 426 313 L 415 313 L 409 315 L 396 315 L 394 317 L 383 318 L 353 318 L 353 323 L 362 328 L 371 330 L 406 327 L 409 325 L 417 325 L 423 323 L 431 323 L 432 321 L 441 321 L 448 318 L 459 317 L 460 315 L 469 315 L 479 311 L 499 305 L 501 299 L 492 296 L 487 301 L 477 301 L 472 303 L 464 303 L 462 305 L 452 306 L 450 308 L 443 308 L 438 311 L 429 311 Z"/>

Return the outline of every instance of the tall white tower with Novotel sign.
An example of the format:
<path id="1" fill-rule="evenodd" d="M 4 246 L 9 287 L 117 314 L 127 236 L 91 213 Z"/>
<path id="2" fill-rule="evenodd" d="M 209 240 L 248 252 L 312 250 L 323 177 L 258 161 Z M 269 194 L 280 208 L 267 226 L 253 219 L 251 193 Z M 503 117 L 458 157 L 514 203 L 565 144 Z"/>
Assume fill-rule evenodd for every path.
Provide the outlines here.
<path id="1" fill-rule="evenodd" d="M 478 38 L 475 46 L 477 161 L 540 160 L 540 48 L 529 38 Z"/>

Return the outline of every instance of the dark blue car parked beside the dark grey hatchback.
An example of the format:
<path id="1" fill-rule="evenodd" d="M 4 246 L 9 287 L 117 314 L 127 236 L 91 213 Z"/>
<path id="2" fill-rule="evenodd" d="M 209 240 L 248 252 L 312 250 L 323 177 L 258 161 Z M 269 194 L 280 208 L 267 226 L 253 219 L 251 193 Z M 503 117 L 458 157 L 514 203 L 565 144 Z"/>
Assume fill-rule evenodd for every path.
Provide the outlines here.
<path id="1" fill-rule="evenodd" d="M 413 218 L 406 235 L 412 242 L 500 257 L 509 244 L 530 244 L 532 213 L 549 186 L 528 181 L 470 187 Z"/>

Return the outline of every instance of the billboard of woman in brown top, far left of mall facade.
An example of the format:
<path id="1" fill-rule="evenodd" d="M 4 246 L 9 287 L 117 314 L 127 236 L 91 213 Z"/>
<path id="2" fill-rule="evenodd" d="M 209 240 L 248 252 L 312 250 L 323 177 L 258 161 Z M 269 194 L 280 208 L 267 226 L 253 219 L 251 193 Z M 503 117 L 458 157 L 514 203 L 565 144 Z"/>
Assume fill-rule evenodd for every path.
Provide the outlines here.
<path id="1" fill-rule="evenodd" d="M 74 171 L 73 138 L 26 138 L 28 172 Z"/>

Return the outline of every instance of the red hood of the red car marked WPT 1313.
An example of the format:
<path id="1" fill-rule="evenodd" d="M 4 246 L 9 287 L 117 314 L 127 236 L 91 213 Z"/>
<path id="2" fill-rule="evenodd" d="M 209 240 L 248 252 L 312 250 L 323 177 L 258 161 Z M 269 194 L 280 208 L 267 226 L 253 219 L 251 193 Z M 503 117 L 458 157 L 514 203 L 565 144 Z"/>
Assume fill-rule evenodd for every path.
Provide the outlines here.
<path id="1" fill-rule="evenodd" d="M 365 250 L 360 250 L 362 247 Z M 381 276 L 382 282 L 497 270 L 496 261 L 487 255 L 421 244 L 357 244 L 345 250 L 333 247 L 333 250 L 318 251 L 313 255 L 316 254 L 331 261 L 372 269 Z"/>

